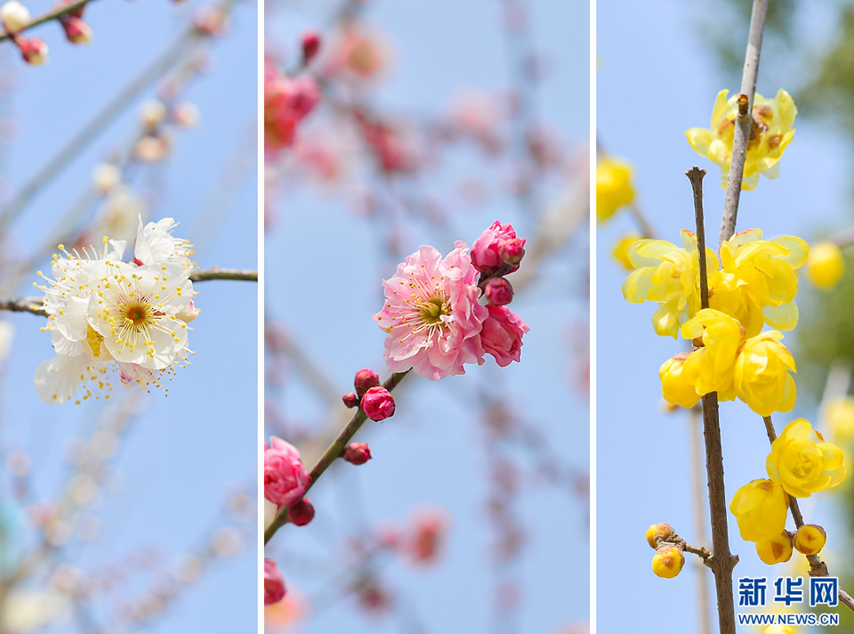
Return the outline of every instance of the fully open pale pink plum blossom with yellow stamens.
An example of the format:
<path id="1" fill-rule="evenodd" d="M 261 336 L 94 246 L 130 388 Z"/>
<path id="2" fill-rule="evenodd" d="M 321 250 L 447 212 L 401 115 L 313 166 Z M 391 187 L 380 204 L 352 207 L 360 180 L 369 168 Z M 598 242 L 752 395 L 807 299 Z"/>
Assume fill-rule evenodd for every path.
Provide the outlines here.
<path id="1" fill-rule="evenodd" d="M 374 315 L 388 333 L 385 361 L 392 372 L 412 368 L 438 380 L 463 374 L 463 364 L 483 363 L 481 322 L 487 307 L 479 305 L 478 271 L 469 248 L 457 241 L 444 259 L 435 248 L 422 246 L 388 280 L 386 302 Z"/>

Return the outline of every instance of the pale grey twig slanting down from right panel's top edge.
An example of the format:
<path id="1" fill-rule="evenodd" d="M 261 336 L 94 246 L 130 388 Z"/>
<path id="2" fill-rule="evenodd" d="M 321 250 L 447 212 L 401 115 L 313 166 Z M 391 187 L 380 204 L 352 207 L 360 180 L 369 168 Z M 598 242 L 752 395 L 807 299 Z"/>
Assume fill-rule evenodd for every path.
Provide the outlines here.
<path id="1" fill-rule="evenodd" d="M 727 198 L 723 203 L 721 238 L 718 249 L 724 240 L 729 240 L 736 232 L 738 199 L 741 197 L 741 182 L 745 175 L 747 142 L 750 140 L 750 127 L 753 117 L 753 93 L 756 92 L 756 76 L 759 74 L 759 57 L 762 50 L 762 32 L 765 30 L 765 14 L 768 12 L 768 0 L 753 0 L 750 14 L 750 34 L 747 36 L 745 69 L 741 76 L 741 94 L 738 100 L 738 117 L 733 134 L 732 154 L 729 161 L 727 178 Z"/>

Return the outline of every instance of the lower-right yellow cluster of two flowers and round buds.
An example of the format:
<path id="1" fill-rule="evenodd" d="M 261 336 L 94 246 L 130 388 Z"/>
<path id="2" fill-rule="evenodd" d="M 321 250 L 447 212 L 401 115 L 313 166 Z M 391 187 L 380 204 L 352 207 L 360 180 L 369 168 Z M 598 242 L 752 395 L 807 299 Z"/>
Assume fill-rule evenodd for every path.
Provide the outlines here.
<path id="1" fill-rule="evenodd" d="M 786 531 L 790 497 L 809 498 L 841 484 L 845 478 L 842 451 L 826 443 L 810 421 L 796 419 L 771 443 L 765 467 L 768 478 L 745 484 L 729 505 L 742 539 L 753 541 L 757 554 L 769 565 L 788 561 L 793 549 L 817 554 L 826 541 L 823 528 L 804 524 L 794 534 Z"/>

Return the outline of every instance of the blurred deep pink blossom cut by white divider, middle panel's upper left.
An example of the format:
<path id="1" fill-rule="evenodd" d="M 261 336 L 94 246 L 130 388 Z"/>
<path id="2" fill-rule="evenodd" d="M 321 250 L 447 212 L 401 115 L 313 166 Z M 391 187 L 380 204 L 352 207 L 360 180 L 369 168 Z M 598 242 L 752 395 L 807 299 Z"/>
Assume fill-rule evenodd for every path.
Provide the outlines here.
<path id="1" fill-rule="evenodd" d="M 294 142 L 296 128 L 320 102 L 313 77 L 285 77 L 272 61 L 264 62 L 264 147 L 277 152 Z"/>

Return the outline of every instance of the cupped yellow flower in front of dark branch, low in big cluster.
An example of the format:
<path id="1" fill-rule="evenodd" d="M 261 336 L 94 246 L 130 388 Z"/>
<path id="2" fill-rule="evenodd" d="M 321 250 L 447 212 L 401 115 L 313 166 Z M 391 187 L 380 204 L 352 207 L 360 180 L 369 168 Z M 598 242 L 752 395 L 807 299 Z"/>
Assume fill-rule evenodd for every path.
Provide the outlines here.
<path id="1" fill-rule="evenodd" d="M 713 308 L 704 308 L 681 329 L 686 339 L 701 338 L 703 347 L 685 362 L 685 379 L 697 394 L 717 392 L 718 399 L 735 398 L 733 378 L 738 349 L 745 343 L 745 329 L 738 321 Z"/>

